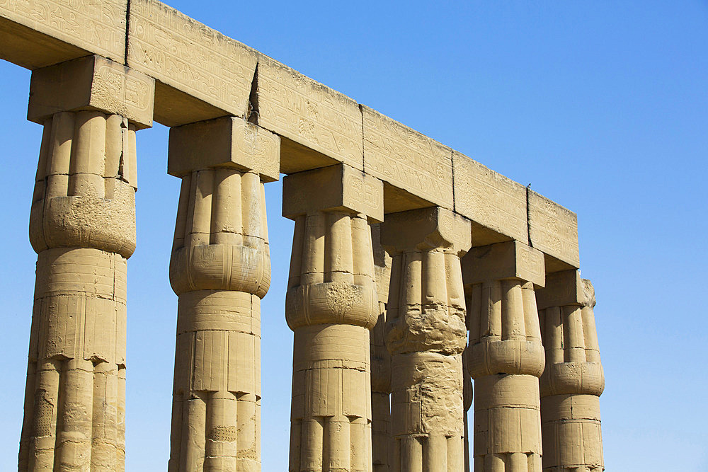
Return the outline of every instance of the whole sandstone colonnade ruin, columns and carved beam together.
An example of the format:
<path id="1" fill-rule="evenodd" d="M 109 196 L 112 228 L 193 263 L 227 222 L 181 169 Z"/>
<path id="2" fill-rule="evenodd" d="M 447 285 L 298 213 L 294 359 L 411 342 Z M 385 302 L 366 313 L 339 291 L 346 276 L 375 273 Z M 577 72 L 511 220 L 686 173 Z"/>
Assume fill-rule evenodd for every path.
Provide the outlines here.
<path id="1" fill-rule="evenodd" d="M 280 173 L 290 472 L 604 470 L 576 214 L 156 0 L 0 0 L 0 58 L 32 71 L 44 129 L 20 471 L 125 469 L 126 270 L 153 121 L 181 179 L 169 471 L 261 470 Z"/>

